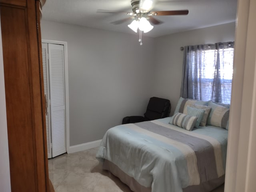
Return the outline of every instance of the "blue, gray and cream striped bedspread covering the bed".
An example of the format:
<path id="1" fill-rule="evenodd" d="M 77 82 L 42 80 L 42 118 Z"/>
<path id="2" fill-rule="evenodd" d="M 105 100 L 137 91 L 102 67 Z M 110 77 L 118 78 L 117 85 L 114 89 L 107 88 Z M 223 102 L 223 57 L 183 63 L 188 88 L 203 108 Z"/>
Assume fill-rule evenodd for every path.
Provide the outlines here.
<path id="1" fill-rule="evenodd" d="M 182 192 L 225 174 L 228 131 L 199 126 L 187 131 L 169 118 L 109 129 L 96 155 L 152 192 Z"/>

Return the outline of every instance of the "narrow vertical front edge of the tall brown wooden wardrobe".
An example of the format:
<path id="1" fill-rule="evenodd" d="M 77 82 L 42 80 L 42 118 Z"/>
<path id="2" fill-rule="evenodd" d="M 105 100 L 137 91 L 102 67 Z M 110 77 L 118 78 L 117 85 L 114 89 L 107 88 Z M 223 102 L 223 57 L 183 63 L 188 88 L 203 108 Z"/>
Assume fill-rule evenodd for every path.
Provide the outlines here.
<path id="1" fill-rule="evenodd" d="M 38 23 L 36 19 L 36 4 L 34 0 L 28 1 L 28 34 L 29 34 L 29 48 L 30 48 L 30 59 L 31 59 L 31 89 L 32 89 L 32 101 L 33 101 L 33 114 L 34 114 L 34 136 L 35 136 L 35 145 L 36 148 L 35 154 L 36 154 L 36 169 L 37 169 L 37 175 L 36 175 L 36 186 L 38 186 L 38 192 L 44 192 L 46 191 L 46 178 L 45 175 L 45 169 L 46 164 L 44 162 L 44 136 L 43 136 L 43 116 L 44 113 L 42 113 L 42 106 L 40 105 L 42 102 L 44 102 L 44 99 L 41 97 L 41 80 L 40 80 L 40 57 L 38 55 L 39 47 L 38 47 Z M 36 87 L 35 87 L 36 86 Z M 44 168 L 44 169 L 42 169 Z M 48 168 L 48 166 L 47 166 Z"/>

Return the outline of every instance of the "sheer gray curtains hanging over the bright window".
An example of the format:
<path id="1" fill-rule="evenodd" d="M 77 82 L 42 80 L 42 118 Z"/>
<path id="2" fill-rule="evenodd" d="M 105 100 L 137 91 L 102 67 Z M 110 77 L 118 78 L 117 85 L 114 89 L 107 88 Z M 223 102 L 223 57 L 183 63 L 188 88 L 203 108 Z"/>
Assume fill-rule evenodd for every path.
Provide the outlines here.
<path id="1" fill-rule="evenodd" d="M 234 42 L 184 47 L 180 96 L 230 104 Z"/>

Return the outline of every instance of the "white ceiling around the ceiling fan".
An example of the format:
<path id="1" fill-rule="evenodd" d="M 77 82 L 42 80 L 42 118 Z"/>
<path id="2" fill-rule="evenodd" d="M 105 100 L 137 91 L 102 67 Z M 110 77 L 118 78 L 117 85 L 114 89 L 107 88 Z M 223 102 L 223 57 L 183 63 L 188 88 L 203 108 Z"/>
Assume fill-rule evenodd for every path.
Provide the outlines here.
<path id="1" fill-rule="evenodd" d="M 145 36 L 158 37 L 208 26 L 234 22 L 237 0 L 154 0 L 153 11 L 188 9 L 188 15 L 154 16 L 164 22 Z M 111 22 L 128 18 L 124 13 L 97 13 L 98 9 L 132 12 L 130 0 L 46 0 L 42 19 L 103 30 L 135 34 L 128 24 Z"/>

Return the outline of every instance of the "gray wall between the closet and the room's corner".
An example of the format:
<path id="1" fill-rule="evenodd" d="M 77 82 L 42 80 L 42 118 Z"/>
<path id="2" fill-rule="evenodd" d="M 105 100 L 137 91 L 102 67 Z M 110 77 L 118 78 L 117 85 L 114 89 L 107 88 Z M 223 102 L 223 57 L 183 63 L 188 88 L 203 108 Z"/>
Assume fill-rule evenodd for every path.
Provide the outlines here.
<path id="1" fill-rule="evenodd" d="M 127 29 L 129 30 L 129 29 Z M 70 146 L 102 139 L 152 96 L 154 39 L 42 21 L 42 39 L 68 43 Z"/>

